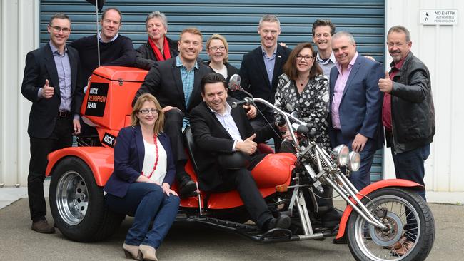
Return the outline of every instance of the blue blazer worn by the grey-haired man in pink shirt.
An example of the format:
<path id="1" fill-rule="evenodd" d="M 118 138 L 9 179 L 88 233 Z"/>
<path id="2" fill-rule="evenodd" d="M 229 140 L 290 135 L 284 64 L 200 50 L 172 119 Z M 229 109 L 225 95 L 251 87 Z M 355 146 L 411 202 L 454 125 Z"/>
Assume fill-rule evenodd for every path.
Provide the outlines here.
<path id="1" fill-rule="evenodd" d="M 331 118 L 333 92 L 337 77 L 338 69 L 333 66 L 331 69 L 329 100 L 329 134 L 333 146 L 338 145 L 335 142 Z M 383 147 L 383 93 L 378 88 L 378 80 L 383 77 L 385 77 L 385 71 L 383 71 L 383 66 L 380 63 L 365 58 L 358 53 L 358 58 L 356 58 L 350 76 L 346 81 L 340 107 L 338 107 L 343 143 L 349 145 L 350 148 L 355 135 L 358 133 L 369 138 L 365 149 L 377 150 Z"/>

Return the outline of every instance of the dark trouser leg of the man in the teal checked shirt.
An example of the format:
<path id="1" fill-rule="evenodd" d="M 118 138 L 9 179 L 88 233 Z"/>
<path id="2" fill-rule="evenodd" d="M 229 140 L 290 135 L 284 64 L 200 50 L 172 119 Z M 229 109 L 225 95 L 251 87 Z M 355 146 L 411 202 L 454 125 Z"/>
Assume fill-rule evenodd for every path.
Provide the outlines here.
<path id="1" fill-rule="evenodd" d="M 178 109 L 171 109 L 164 113 L 164 133 L 171 138 L 173 157 L 176 162 L 176 180 L 178 182 L 187 176 L 184 170 L 187 155 L 183 148 L 182 118 L 183 112 Z"/>

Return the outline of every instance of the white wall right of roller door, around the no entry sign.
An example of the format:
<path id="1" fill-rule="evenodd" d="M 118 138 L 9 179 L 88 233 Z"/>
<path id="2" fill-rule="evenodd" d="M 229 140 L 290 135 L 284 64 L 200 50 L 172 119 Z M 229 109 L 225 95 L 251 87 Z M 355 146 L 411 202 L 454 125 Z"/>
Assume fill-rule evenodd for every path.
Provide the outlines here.
<path id="1" fill-rule="evenodd" d="M 458 24 L 452 26 L 420 24 L 420 9 L 457 9 Z M 412 51 L 428 69 L 435 102 L 436 134 L 425 161 L 425 186 L 429 202 L 464 203 L 464 178 L 461 156 L 464 155 L 464 88 L 458 73 L 464 71 L 464 1 L 459 0 L 387 0 L 385 1 L 385 37 L 391 26 L 409 29 Z M 386 40 L 385 40 L 386 41 Z M 385 61 L 392 61 L 385 48 Z M 418 116 L 420 117 L 420 116 Z M 385 178 L 394 178 L 390 150 L 385 150 Z"/>

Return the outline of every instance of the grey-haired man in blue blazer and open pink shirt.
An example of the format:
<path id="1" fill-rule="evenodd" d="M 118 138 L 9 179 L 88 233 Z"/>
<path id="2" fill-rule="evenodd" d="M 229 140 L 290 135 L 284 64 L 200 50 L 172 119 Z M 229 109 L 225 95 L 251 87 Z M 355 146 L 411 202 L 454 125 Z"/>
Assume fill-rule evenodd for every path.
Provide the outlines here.
<path id="1" fill-rule="evenodd" d="M 329 135 L 332 146 L 345 144 L 360 153 L 361 166 L 350 173 L 358 190 L 370 184 L 375 150 L 383 148 L 378 80 L 385 76 L 380 63 L 360 56 L 353 36 L 340 31 L 332 37 L 336 66 L 331 69 Z"/>

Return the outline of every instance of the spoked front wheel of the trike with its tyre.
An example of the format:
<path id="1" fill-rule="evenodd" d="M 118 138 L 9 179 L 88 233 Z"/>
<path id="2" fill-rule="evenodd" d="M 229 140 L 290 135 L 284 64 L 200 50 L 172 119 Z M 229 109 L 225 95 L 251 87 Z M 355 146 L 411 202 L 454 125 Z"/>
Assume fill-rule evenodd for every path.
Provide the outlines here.
<path id="1" fill-rule="evenodd" d="M 347 232 L 356 260 L 425 260 L 435 239 L 435 221 L 423 198 L 400 188 L 383 188 L 362 201 L 388 230 L 370 225 L 353 211 Z"/>

